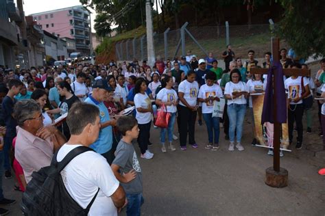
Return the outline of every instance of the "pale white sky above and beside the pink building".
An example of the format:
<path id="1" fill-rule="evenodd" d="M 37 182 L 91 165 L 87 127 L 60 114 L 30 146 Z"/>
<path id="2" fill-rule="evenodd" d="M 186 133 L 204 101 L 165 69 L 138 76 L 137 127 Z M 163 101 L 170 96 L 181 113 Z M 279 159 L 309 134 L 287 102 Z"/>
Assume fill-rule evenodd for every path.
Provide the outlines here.
<path id="1" fill-rule="evenodd" d="M 60 8 L 68 8 L 75 5 L 81 5 L 79 0 L 23 0 L 23 3 L 25 16 L 49 10 L 56 10 Z M 88 9 L 91 10 L 90 8 Z M 93 26 L 96 12 L 94 10 L 91 10 L 91 12 L 91 31 L 95 32 Z"/>

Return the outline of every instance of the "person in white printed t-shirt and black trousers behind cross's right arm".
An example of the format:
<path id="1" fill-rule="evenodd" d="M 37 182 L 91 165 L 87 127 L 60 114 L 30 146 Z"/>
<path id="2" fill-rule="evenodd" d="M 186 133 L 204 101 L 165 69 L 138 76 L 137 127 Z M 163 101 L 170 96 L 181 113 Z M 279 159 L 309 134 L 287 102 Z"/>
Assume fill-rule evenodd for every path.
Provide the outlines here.
<path id="1" fill-rule="evenodd" d="M 301 68 L 301 65 L 294 63 L 291 68 Z M 302 86 L 302 84 L 304 86 Z M 306 77 L 291 76 L 285 80 L 285 89 L 288 91 L 289 107 L 288 107 L 288 128 L 289 128 L 289 143 L 293 139 L 293 124 L 296 121 L 297 126 L 297 144 L 296 148 L 302 148 L 302 115 L 304 114 L 304 105 L 302 99 L 311 94 L 309 90 L 309 80 Z"/>

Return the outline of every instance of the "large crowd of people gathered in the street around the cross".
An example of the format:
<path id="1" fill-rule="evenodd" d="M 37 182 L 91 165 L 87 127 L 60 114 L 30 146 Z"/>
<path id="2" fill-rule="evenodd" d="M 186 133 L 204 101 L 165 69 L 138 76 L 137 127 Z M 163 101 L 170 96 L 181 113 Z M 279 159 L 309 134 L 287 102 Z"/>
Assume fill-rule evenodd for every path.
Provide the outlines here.
<path id="1" fill-rule="evenodd" d="M 280 55 L 283 68 L 308 68 L 287 57 L 286 49 L 281 49 Z M 198 148 L 195 126 L 203 124 L 207 150 L 219 149 L 221 126 L 229 140 L 228 150 L 244 150 L 244 118 L 254 118 L 250 94 L 263 93 L 267 85 L 267 75 L 252 75 L 250 69 L 269 68 L 272 54 L 266 52 L 265 60 L 258 62 L 250 50 L 248 60 L 242 62 L 229 45 L 221 57 L 225 70 L 218 66 L 213 53 L 197 59 L 191 51 L 172 61 L 156 59 L 153 66 L 146 61 L 140 65 L 136 60 L 128 64 L 112 60 L 107 65 L 74 64 L 16 71 L 1 66 L 0 204 L 15 202 L 3 198 L 2 193 L 3 173 L 5 178 L 12 178 L 12 166 L 18 183 L 15 189 L 25 191 L 32 173 L 49 166 L 56 151 L 59 150 L 57 160 L 62 161 L 77 146 L 89 146 L 95 152 L 81 154 L 62 171 L 71 197 L 86 208 L 97 195 L 91 215 L 116 215 L 117 208 L 123 206 L 128 215 L 140 215 L 141 167 L 132 143 L 137 139 L 142 159 L 154 157 L 149 146 L 152 125 L 157 129 L 157 109 L 169 113 L 167 127 L 160 129 L 163 153 L 167 149 L 173 152 L 177 146 L 183 151 L 188 146 Z M 311 133 L 313 97 L 316 94 L 325 98 L 325 59 L 320 61 L 320 67 L 315 79 L 283 77 L 289 99 L 289 143 L 293 143 L 296 130 L 297 149 L 302 148 L 303 114 L 306 113 L 306 133 Z M 226 100 L 222 118 L 213 116 L 213 105 L 220 98 Z M 322 100 L 317 103 L 322 136 L 325 107 Z M 134 111 L 123 116 L 130 107 Z M 66 120 L 56 121 L 65 116 Z M 174 134 L 175 122 L 178 135 Z M 273 131 L 271 123 L 267 128 Z M 325 144 L 324 136 L 323 141 Z M 268 142 L 273 146 L 272 139 Z M 252 145 L 256 144 L 254 137 Z M 12 158 L 10 152 L 14 152 Z M 267 154 L 273 154 L 272 148 Z M 0 208 L 0 214 L 5 211 Z"/>

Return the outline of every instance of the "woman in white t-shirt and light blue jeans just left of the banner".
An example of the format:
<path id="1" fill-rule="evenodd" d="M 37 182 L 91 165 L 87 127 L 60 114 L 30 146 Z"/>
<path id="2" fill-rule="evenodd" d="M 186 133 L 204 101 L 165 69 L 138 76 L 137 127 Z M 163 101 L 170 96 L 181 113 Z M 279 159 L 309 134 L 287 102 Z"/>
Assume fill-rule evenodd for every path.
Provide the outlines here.
<path id="1" fill-rule="evenodd" d="M 243 120 L 245 118 L 247 98 L 250 96 L 246 83 L 241 81 L 241 72 L 235 68 L 230 72 L 230 81 L 226 83 L 225 98 L 228 100 L 227 113 L 230 122 L 228 150 L 234 150 L 234 131 L 237 135 L 236 148 L 244 150 L 241 146 L 241 136 L 243 134 Z"/>

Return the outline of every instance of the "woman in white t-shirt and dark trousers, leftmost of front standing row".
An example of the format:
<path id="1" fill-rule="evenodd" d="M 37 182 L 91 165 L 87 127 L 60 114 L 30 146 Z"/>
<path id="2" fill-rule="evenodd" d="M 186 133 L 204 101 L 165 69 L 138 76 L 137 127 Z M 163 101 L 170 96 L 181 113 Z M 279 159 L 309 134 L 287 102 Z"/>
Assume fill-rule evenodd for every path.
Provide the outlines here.
<path id="1" fill-rule="evenodd" d="M 147 93 L 145 93 L 146 90 L 147 84 L 145 84 L 143 79 L 136 81 L 134 105 L 136 107 L 136 120 L 140 130 L 138 144 L 141 150 L 141 158 L 152 159 L 154 154 L 148 150 L 150 126 L 152 123 L 152 102 Z"/>

